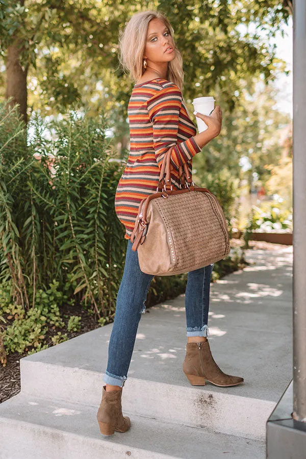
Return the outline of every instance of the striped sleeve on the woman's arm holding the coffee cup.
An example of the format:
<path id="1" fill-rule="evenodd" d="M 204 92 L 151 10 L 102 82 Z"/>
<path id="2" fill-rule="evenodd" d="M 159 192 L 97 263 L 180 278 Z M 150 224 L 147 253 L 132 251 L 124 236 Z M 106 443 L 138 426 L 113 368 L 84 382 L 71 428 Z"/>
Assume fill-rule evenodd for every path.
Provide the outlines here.
<path id="1" fill-rule="evenodd" d="M 177 142 L 179 116 L 182 107 L 182 92 L 174 83 L 161 89 L 147 101 L 149 119 L 153 126 L 153 144 L 159 167 L 165 153 L 175 145 L 171 152 L 171 164 L 179 169 L 188 163 L 201 148 L 193 137 Z"/>

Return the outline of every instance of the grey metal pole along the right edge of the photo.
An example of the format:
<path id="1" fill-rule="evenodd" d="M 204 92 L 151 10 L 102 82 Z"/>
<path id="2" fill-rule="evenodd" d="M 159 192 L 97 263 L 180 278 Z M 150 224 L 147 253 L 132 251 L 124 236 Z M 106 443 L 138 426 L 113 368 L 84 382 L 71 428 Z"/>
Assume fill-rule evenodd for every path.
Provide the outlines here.
<path id="1" fill-rule="evenodd" d="M 306 422 L 306 2 L 293 7 L 293 418 Z"/>

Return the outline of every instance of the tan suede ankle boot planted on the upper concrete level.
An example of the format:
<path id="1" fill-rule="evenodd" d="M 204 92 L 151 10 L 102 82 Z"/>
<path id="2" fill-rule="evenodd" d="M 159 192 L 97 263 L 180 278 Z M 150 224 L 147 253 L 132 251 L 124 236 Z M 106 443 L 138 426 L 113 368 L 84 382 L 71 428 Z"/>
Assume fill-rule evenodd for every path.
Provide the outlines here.
<path id="1" fill-rule="evenodd" d="M 223 373 L 211 353 L 208 340 L 200 343 L 187 343 L 183 371 L 192 386 L 205 386 L 205 380 L 215 386 L 237 386 L 243 382 L 240 376 Z"/>

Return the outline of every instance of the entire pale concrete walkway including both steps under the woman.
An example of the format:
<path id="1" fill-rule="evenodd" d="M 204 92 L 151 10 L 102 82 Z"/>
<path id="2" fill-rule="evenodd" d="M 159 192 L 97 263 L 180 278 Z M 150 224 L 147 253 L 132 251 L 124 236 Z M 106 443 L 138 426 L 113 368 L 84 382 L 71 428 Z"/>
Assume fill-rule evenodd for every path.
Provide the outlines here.
<path id="1" fill-rule="evenodd" d="M 266 421 L 292 378 L 292 246 L 276 247 L 247 250 L 252 265 L 211 284 L 212 353 L 224 372 L 244 377 L 242 385 L 190 385 L 181 295 L 142 315 L 122 396 L 129 432 L 105 439 L 95 421 L 109 324 L 21 359 L 21 392 L 0 405 L 7 454 L 0 457 L 17 458 L 35 444 L 34 459 L 46 448 L 49 457 L 85 459 L 96 447 L 101 458 L 128 450 L 139 458 L 263 459 Z M 78 454 L 63 455 L 74 441 Z"/>

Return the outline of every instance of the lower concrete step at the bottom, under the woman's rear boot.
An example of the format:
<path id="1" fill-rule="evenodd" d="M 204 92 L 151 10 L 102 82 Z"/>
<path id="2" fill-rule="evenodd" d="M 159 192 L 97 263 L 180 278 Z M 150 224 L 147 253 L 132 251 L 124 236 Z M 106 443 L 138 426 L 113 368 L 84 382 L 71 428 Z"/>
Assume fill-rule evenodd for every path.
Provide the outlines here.
<path id="1" fill-rule="evenodd" d="M 101 435 L 96 406 L 19 393 L 0 405 L 1 459 L 264 459 L 265 443 L 130 413 L 131 428 Z M 193 409 L 193 408 L 192 408 Z M 191 410 L 192 411 L 192 410 Z"/>

